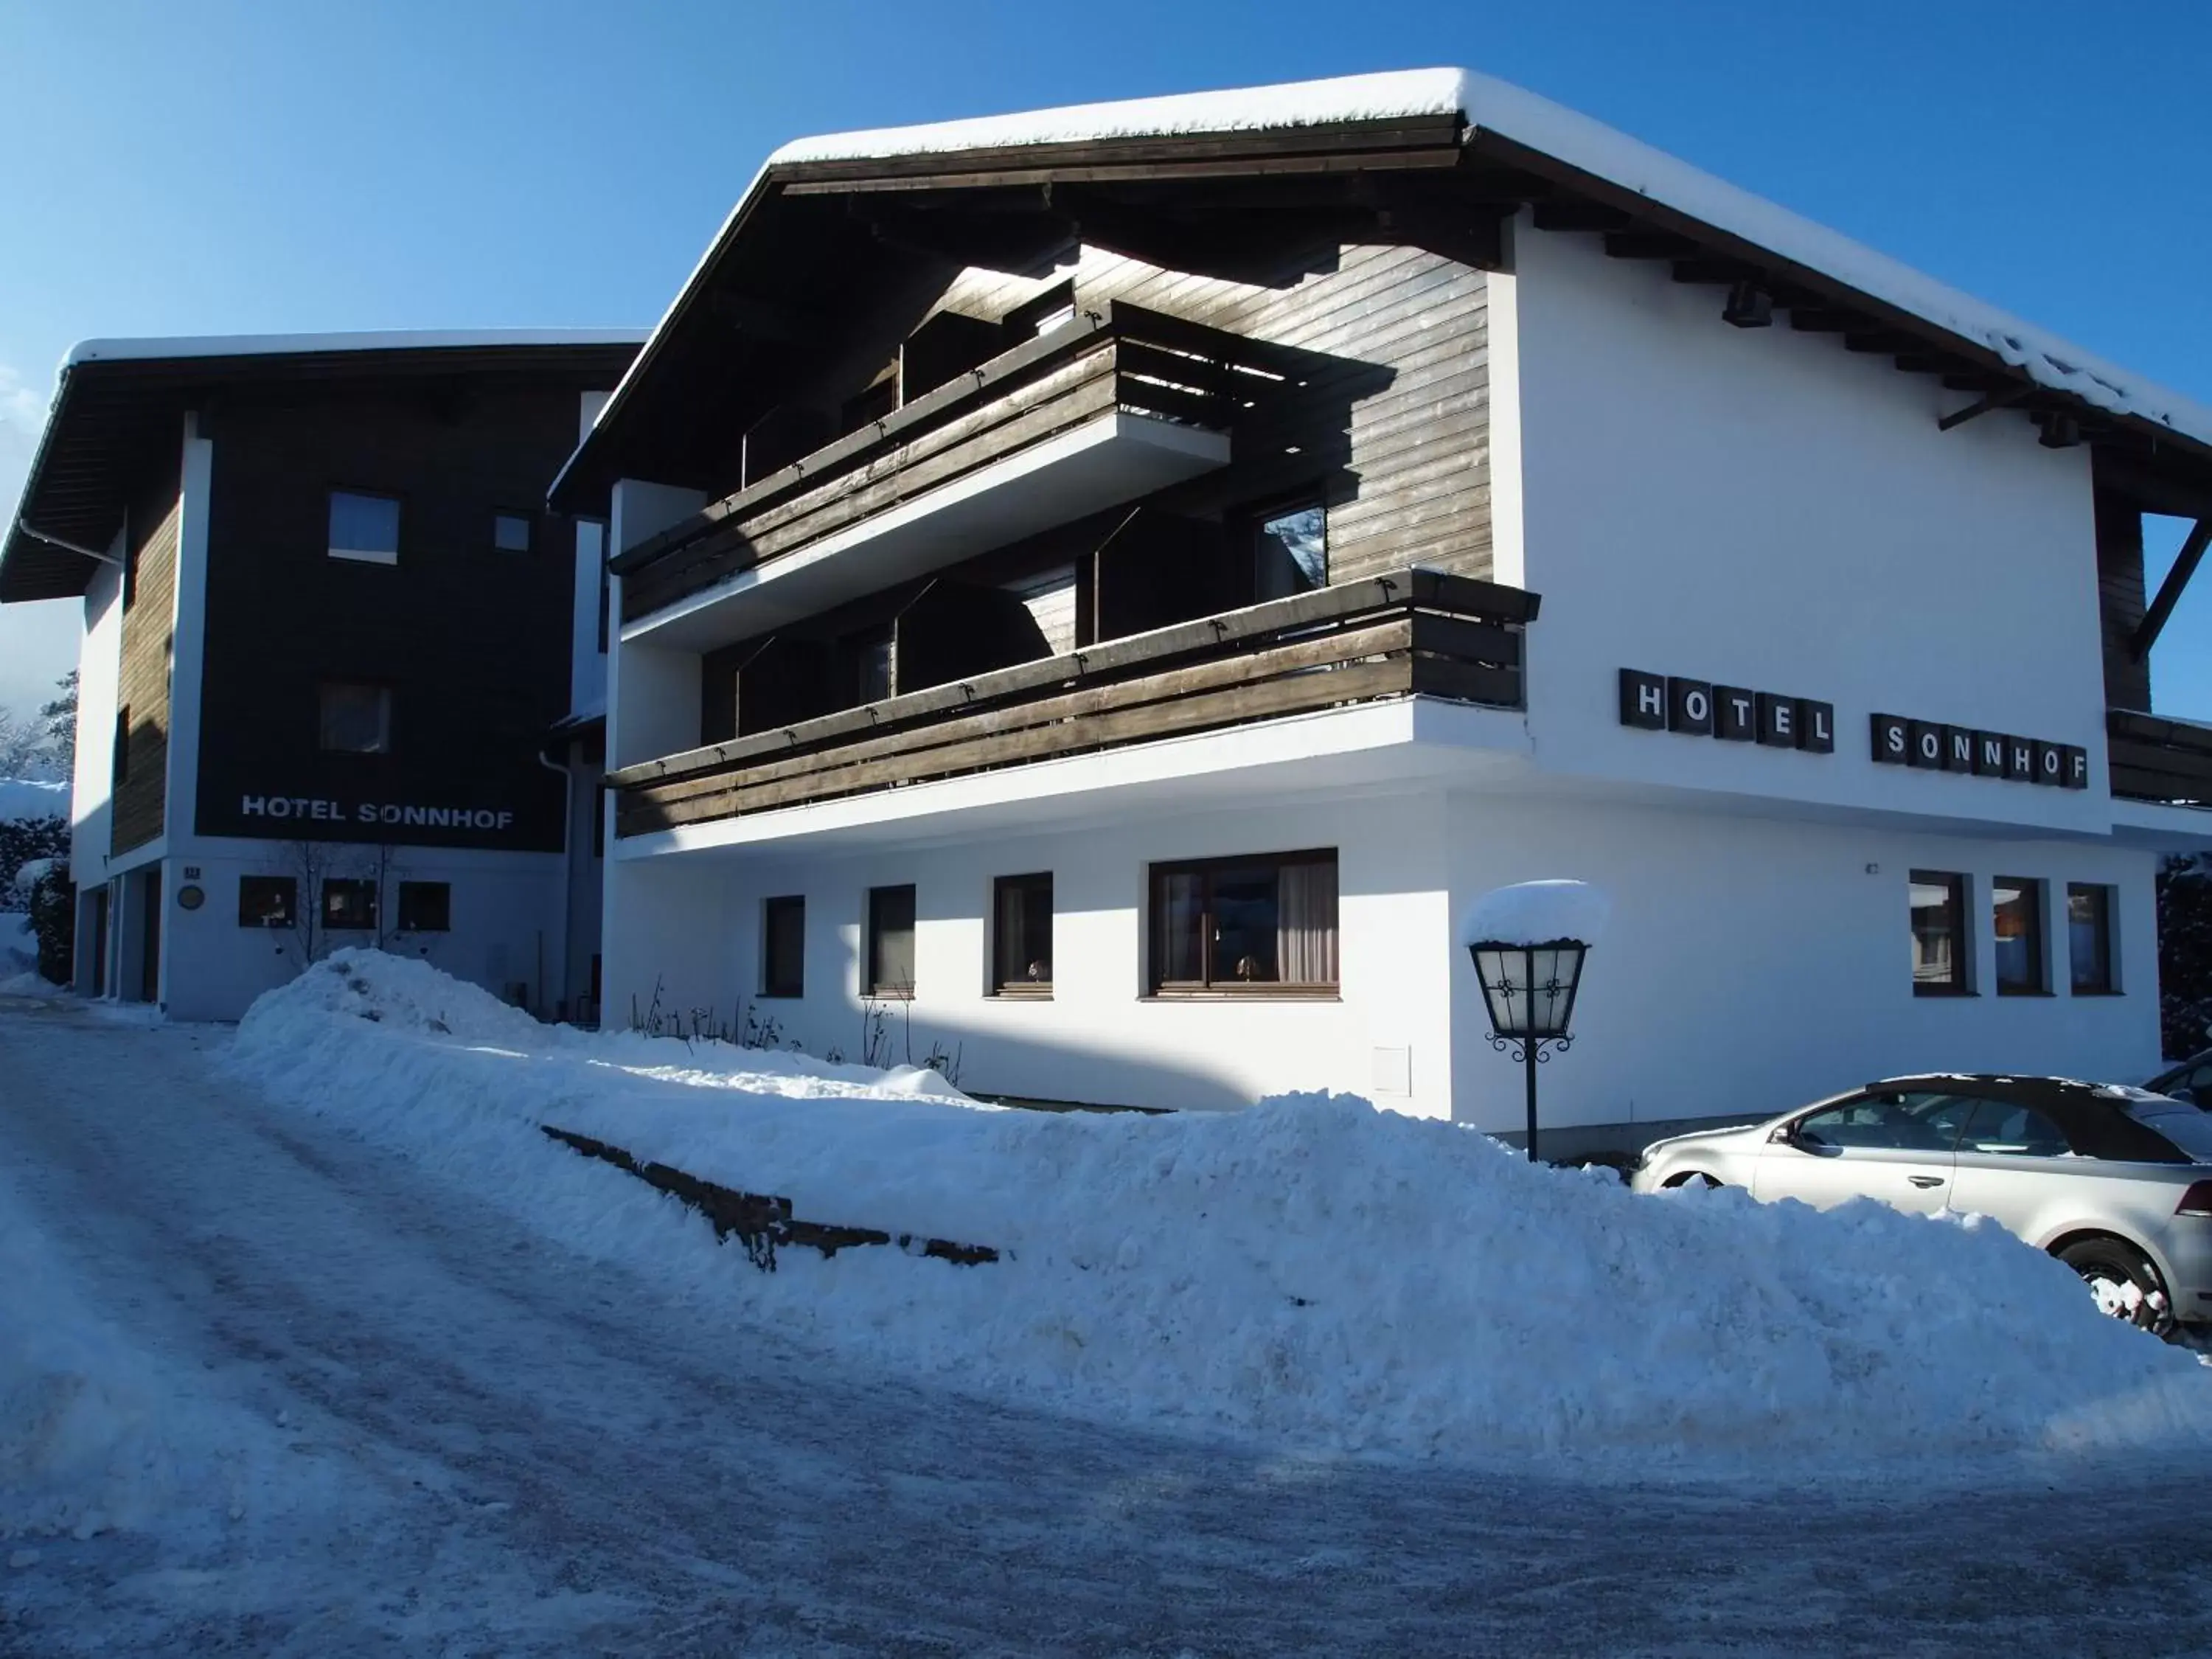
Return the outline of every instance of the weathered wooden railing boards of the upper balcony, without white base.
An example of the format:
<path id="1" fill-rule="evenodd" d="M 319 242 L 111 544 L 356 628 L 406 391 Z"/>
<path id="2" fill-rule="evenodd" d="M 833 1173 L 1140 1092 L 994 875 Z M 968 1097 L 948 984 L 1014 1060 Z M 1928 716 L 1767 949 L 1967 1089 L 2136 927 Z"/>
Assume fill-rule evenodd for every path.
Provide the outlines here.
<path id="1" fill-rule="evenodd" d="M 617 555 L 626 622 L 1115 409 L 1225 431 L 1298 354 L 1108 301 Z"/>

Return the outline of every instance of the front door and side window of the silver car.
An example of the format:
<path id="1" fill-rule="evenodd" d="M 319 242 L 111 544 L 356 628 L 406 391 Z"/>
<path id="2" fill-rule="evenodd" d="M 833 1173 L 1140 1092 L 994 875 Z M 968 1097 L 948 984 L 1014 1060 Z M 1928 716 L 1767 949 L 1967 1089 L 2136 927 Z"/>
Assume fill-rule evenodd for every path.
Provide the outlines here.
<path id="1" fill-rule="evenodd" d="M 1759 1155 L 1761 1199 L 1825 1210 L 1880 1199 L 1936 1214 L 1951 1197 L 1958 1130 L 1973 1102 L 1958 1095 L 1869 1091 L 1796 1119 Z"/>

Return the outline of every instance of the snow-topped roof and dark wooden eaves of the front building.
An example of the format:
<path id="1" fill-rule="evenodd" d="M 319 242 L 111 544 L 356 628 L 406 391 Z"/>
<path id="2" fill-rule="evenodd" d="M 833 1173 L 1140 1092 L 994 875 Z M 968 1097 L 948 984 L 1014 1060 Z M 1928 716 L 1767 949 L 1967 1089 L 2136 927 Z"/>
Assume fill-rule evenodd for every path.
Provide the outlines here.
<path id="1" fill-rule="evenodd" d="M 1893 341 L 1900 367 L 1920 363 L 2037 416 L 2079 411 L 2093 442 L 2212 484 L 2212 409 L 1520 86 L 1427 69 L 787 144 L 752 179 L 562 469 L 555 504 L 595 500 L 622 476 L 659 478 L 653 445 L 626 434 L 653 425 L 637 425 L 639 405 L 672 358 L 710 338 L 710 323 L 723 334 L 745 327 L 728 305 L 717 312 L 712 294 L 732 254 L 772 230 L 779 201 L 843 197 L 863 210 L 863 199 L 891 192 L 945 204 L 956 192 L 1029 190 L 1051 204 L 1053 192 L 1170 177 L 1340 175 L 1367 190 L 1411 170 L 1462 177 L 1478 210 L 1535 204 L 1582 212 L 1586 230 L 1679 239 L 1686 263 L 1741 270 L 1783 290 L 1785 303 L 1825 307 L 1823 325 L 1856 330 L 1858 349 Z"/>

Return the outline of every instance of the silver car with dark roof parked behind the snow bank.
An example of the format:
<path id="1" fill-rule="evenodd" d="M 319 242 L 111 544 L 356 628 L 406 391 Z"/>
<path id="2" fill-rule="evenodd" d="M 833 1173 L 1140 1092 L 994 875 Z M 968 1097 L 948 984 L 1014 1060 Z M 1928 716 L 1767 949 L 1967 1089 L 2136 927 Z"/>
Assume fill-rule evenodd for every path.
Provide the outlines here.
<path id="1" fill-rule="evenodd" d="M 2143 1329 L 2212 1323 L 2212 1113 L 2062 1077 L 1891 1077 L 1644 1150 L 1637 1192 L 1741 1186 L 1816 1208 L 1986 1214 Z"/>

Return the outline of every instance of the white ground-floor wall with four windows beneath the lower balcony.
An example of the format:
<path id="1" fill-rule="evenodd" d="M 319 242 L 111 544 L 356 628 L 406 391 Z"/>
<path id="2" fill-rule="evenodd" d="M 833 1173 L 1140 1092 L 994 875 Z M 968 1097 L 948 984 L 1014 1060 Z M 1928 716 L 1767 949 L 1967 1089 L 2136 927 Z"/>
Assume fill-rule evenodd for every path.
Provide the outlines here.
<path id="1" fill-rule="evenodd" d="M 867 889 L 916 887 L 916 995 L 891 1006 L 891 1060 L 933 1044 L 962 1053 L 960 1082 L 1000 1095 L 1175 1108 L 1245 1106 L 1292 1088 L 1369 1095 L 1409 1113 L 1444 1115 L 1451 949 L 1440 796 L 1250 801 L 1228 812 L 1130 814 L 1126 823 L 1053 834 L 971 836 L 953 845 L 836 858 L 759 849 L 617 863 L 728 869 L 721 916 L 690 905 L 666 929 L 714 945 L 728 1015 L 761 984 L 761 900 L 803 894 L 803 1000 L 754 1002 L 810 1053 L 860 1057 L 860 971 Z M 1250 852 L 1338 849 L 1340 1000 L 1146 1000 L 1146 872 L 1155 860 Z M 1053 998 L 989 995 L 991 883 L 1053 874 Z M 613 960 L 613 958 L 611 958 Z M 608 1020 L 626 1013 L 613 998 Z M 1411 1095 L 1376 1091 L 1376 1048 L 1411 1051 Z"/>

